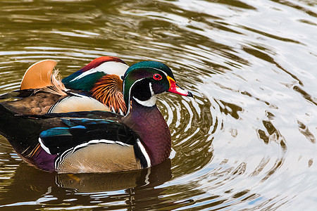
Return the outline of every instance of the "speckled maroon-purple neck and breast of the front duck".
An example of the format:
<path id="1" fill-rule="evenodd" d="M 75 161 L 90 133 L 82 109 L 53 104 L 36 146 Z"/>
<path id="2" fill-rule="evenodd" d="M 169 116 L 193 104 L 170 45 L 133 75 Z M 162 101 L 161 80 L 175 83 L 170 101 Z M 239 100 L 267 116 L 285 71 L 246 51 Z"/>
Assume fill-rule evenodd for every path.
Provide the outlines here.
<path id="1" fill-rule="evenodd" d="M 132 99 L 131 111 L 123 118 L 123 122 L 142 139 L 151 166 L 168 158 L 171 146 L 170 129 L 155 104 L 151 107 L 142 106 Z"/>

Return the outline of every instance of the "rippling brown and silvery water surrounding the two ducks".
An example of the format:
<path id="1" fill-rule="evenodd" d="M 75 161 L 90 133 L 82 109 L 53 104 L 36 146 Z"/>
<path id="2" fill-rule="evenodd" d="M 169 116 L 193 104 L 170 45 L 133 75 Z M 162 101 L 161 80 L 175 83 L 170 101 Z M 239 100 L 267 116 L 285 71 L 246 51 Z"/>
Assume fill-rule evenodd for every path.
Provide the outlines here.
<path id="1" fill-rule="evenodd" d="M 0 94 L 38 60 L 158 60 L 175 157 L 117 174 L 30 167 L 0 138 L 8 210 L 316 210 L 317 2 L 0 0 Z"/>

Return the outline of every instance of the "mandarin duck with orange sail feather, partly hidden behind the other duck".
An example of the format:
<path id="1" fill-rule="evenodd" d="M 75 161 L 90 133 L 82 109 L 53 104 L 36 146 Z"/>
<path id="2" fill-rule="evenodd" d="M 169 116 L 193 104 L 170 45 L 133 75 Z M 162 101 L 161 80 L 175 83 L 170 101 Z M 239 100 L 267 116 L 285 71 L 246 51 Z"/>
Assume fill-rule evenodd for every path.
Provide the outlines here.
<path id="1" fill-rule="evenodd" d="M 114 56 L 95 58 L 77 72 L 61 79 L 55 60 L 42 60 L 30 66 L 20 89 L 0 99 L 18 98 L 3 104 L 20 114 L 67 113 L 106 110 L 125 114 L 123 76 L 128 65 Z"/>

